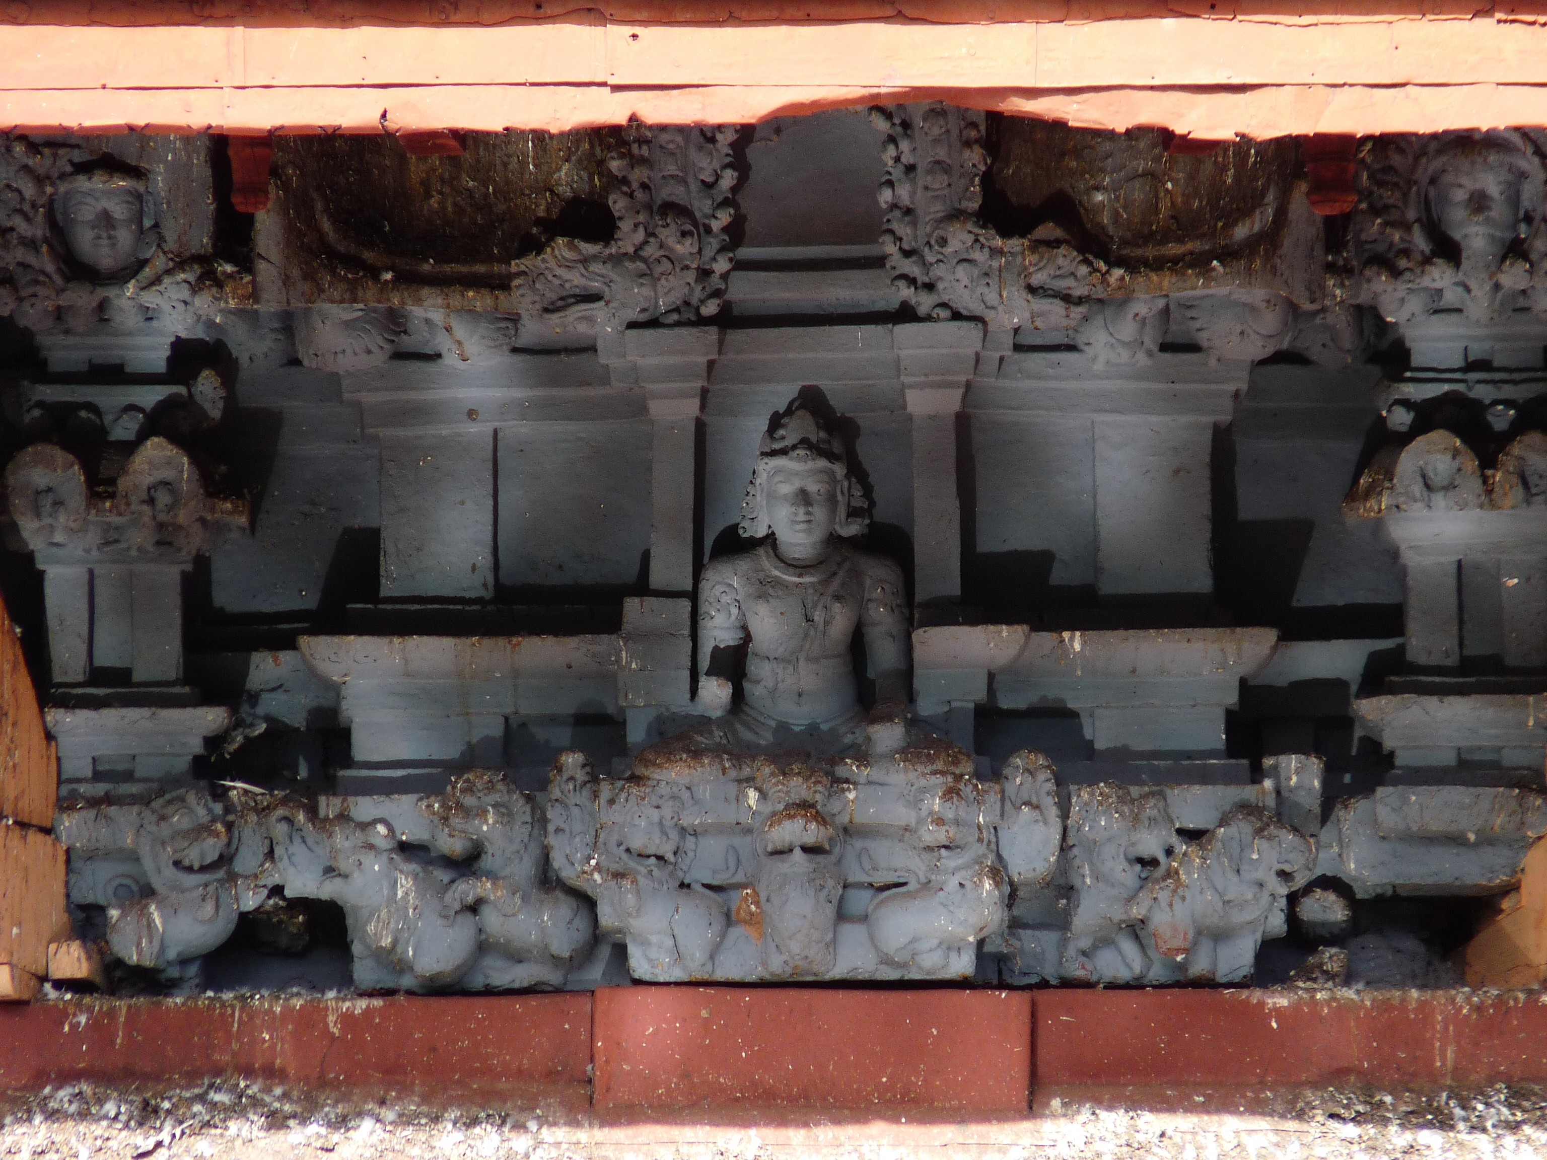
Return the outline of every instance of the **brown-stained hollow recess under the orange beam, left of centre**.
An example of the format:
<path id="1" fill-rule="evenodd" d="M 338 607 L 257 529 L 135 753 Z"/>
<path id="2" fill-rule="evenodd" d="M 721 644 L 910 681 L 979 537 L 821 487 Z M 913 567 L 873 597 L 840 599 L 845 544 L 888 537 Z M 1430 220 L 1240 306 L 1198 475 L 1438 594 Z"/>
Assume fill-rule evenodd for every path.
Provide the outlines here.
<path id="1" fill-rule="evenodd" d="M 461 155 L 396 138 L 275 138 L 260 220 L 265 305 L 507 308 L 512 263 L 555 238 L 605 243 L 622 130 L 469 133 Z"/>

